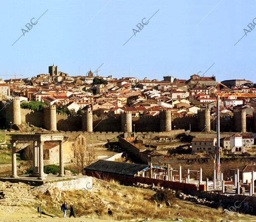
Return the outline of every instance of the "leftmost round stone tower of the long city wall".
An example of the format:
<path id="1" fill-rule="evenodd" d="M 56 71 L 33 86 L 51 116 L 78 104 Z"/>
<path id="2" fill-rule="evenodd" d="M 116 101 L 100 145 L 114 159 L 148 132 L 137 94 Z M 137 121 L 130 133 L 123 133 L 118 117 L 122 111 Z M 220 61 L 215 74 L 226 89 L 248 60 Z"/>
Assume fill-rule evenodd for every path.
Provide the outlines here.
<path id="1" fill-rule="evenodd" d="M 7 99 L 5 101 L 6 109 L 6 123 L 7 125 L 12 122 L 12 125 L 20 125 L 21 124 L 21 106 L 18 98 Z"/>

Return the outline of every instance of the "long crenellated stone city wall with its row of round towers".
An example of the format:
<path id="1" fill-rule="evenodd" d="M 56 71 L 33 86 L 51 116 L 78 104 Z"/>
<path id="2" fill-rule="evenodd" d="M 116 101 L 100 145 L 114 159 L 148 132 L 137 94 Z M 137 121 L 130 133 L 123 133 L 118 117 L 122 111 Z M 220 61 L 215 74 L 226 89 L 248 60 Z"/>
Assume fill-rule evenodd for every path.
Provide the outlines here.
<path id="1" fill-rule="evenodd" d="M 86 131 L 86 132 L 168 132 L 173 129 L 210 132 L 216 130 L 216 119 L 210 116 L 209 110 L 199 111 L 192 117 L 175 117 L 171 111 L 161 111 L 158 116 L 133 117 L 131 112 L 120 116 L 98 118 L 93 120 L 91 112 L 84 112 L 82 117 L 56 113 L 55 106 L 45 106 L 43 111 L 21 109 L 18 99 L 0 103 L 0 115 L 6 123 L 19 125 L 21 122 L 31 123 L 47 130 Z M 126 125 L 126 126 L 125 126 Z M 245 112 L 235 110 L 234 117 L 220 117 L 221 132 L 256 131 L 256 111 L 253 118 L 246 118 Z"/>

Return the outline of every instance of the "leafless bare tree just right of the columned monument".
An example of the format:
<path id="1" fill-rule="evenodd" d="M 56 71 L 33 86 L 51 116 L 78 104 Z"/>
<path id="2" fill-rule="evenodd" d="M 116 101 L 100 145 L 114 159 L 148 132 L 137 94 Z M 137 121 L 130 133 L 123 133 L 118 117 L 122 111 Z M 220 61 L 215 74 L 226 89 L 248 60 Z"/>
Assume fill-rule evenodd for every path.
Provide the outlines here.
<path id="1" fill-rule="evenodd" d="M 95 147 L 86 145 L 84 137 L 77 137 L 75 142 L 71 143 L 71 151 L 73 151 L 73 160 L 76 164 L 78 172 L 82 172 L 86 165 L 95 161 Z"/>

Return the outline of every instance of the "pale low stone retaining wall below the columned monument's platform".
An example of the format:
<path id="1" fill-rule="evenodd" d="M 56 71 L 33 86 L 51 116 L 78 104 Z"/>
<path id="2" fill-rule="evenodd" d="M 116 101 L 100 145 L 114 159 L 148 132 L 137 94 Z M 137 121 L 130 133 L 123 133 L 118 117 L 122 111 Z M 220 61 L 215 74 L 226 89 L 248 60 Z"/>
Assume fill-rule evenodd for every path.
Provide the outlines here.
<path id="1" fill-rule="evenodd" d="M 39 187 L 36 187 L 36 189 L 38 191 L 45 193 L 48 189 L 55 188 L 55 187 L 57 187 L 62 191 L 81 190 L 81 189 L 90 190 L 89 188 L 92 187 L 92 177 L 83 176 L 83 177 L 77 177 L 71 180 L 48 182 Z"/>

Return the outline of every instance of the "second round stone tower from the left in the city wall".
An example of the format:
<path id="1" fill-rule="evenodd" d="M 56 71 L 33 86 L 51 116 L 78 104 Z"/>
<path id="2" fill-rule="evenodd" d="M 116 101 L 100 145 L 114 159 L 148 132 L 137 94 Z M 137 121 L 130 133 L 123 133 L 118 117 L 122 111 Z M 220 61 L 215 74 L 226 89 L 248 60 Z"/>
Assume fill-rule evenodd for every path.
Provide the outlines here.
<path id="1" fill-rule="evenodd" d="M 43 107 L 43 123 L 47 130 L 57 130 L 56 106 Z"/>

